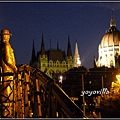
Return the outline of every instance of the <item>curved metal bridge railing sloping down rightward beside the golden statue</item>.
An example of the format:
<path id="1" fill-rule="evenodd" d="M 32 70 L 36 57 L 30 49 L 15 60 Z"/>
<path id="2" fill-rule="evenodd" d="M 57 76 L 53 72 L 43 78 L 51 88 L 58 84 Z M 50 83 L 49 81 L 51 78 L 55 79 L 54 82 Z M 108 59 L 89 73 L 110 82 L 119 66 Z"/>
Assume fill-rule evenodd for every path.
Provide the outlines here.
<path id="1" fill-rule="evenodd" d="M 26 64 L 20 66 L 12 86 L 13 109 L 8 111 L 12 113 L 12 118 L 86 117 L 62 88 L 38 68 L 32 68 Z M 0 91 L 2 93 L 1 88 Z"/>

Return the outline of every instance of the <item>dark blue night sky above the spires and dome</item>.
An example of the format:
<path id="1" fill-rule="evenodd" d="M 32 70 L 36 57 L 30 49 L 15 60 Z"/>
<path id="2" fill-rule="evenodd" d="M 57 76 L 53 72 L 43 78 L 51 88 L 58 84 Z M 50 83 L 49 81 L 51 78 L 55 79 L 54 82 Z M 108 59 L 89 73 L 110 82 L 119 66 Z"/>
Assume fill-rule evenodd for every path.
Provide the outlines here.
<path id="1" fill-rule="evenodd" d="M 45 48 L 67 51 L 68 35 L 74 54 L 78 41 L 82 65 L 93 67 L 98 45 L 110 27 L 114 8 L 116 27 L 120 30 L 120 2 L 0 2 L 0 30 L 12 33 L 10 43 L 17 64 L 28 64 L 32 43 L 40 50 L 42 32 Z"/>

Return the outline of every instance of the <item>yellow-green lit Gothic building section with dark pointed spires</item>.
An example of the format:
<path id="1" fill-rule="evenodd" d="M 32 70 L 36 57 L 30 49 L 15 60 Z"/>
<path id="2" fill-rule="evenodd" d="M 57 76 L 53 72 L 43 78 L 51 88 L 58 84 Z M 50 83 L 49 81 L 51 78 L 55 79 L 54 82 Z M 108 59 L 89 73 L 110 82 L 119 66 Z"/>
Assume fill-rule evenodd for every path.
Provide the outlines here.
<path id="1" fill-rule="evenodd" d="M 41 50 L 35 55 L 35 47 L 33 42 L 32 57 L 30 61 L 32 67 L 40 68 L 48 76 L 53 78 L 55 74 L 61 74 L 73 67 L 81 65 L 80 55 L 78 52 L 78 44 L 76 43 L 75 55 L 72 56 L 70 37 L 68 36 L 67 54 L 59 49 L 45 50 L 44 38 L 42 34 Z"/>

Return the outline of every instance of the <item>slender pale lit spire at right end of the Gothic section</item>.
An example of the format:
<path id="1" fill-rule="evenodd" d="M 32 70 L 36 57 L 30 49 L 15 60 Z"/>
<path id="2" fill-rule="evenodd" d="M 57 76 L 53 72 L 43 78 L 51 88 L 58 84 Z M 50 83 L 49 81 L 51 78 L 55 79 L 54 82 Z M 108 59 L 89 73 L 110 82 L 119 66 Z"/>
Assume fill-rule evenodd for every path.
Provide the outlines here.
<path id="1" fill-rule="evenodd" d="M 78 43 L 76 42 L 75 44 L 75 54 L 74 54 L 74 67 L 79 67 L 81 66 L 81 60 L 80 60 L 80 55 L 78 52 Z"/>

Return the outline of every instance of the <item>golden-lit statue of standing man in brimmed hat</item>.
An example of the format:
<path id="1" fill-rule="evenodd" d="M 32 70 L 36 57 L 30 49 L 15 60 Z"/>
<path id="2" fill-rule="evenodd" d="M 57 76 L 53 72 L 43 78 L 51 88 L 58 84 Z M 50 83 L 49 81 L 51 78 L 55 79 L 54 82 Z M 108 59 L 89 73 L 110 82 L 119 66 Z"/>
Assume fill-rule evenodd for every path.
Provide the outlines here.
<path id="1" fill-rule="evenodd" d="M 17 73 L 14 51 L 9 43 L 12 36 L 8 30 L 1 30 L 1 55 L 0 64 L 2 67 L 2 87 L 1 102 L 2 102 L 2 117 L 13 117 L 13 78 L 14 73 Z M 8 73 L 11 73 L 8 75 Z"/>

